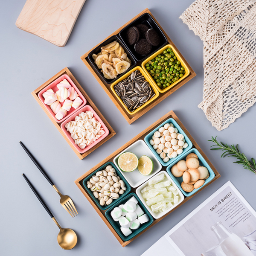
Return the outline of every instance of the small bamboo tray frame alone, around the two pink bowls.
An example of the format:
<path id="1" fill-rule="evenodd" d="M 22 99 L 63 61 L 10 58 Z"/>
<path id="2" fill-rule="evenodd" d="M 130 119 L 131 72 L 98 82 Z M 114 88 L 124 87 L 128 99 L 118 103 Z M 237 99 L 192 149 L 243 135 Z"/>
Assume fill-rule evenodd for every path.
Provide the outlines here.
<path id="1" fill-rule="evenodd" d="M 56 80 L 58 77 L 62 76 L 62 75 L 68 75 L 70 77 L 70 79 L 72 79 L 72 81 L 76 84 L 76 86 L 78 87 L 78 89 L 80 90 L 80 92 L 84 95 L 85 99 L 87 100 L 86 105 L 90 105 L 93 110 L 99 115 L 99 117 L 102 119 L 102 121 L 105 123 L 105 125 L 107 126 L 108 130 L 109 130 L 109 134 L 107 137 L 105 137 L 102 141 L 100 141 L 99 143 L 97 143 L 95 146 L 93 146 L 92 148 L 90 148 L 88 151 L 86 151 L 85 153 L 81 154 L 77 151 L 77 149 L 75 148 L 75 146 L 70 142 L 70 140 L 67 138 L 67 136 L 64 134 L 64 132 L 61 130 L 61 123 L 57 123 L 54 118 L 51 116 L 51 114 L 49 113 L 49 111 L 47 110 L 47 108 L 44 106 L 44 104 L 41 102 L 41 100 L 38 97 L 38 93 L 44 89 L 44 87 L 47 87 L 47 85 L 49 85 L 52 81 Z M 88 154 L 90 154 L 91 152 L 93 152 L 96 148 L 98 148 L 100 145 L 102 145 L 103 143 L 105 143 L 107 140 L 109 140 L 110 138 L 112 138 L 116 132 L 113 130 L 113 128 L 109 125 L 109 123 L 107 122 L 107 120 L 104 118 L 104 116 L 102 115 L 102 113 L 100 113 L 100 111 L 98 110 L 98 108 L 94 105 L 94 103 L 92 102 L 92 100 L 90 99 L 90 97 L 85 93 L 85 91 L 83 90 L 83 88 L 81 87 L 81 85 L 79 84 L 79 82 L 75 79 L 75 77 L 72 75 L 72 73 L 70 72 L 70 70 L 65 67 L 63 70 L 61 70 L 59 73 L 57 73 L 55 76 L 53 76 L 51 79 L 49 79 L 48 81 L 46 81 L 44 84 L 42 84 L 40 87 L 38 87 L 36 90 L 34 90 L 31 93 L 34 98 L 36 99 L 36 101 L 38 102 L 38 104 L 41 106 L 41 108 L 44 110 L 44 112 L 47 114 L 47 116 L 49 117 L 49 119 L 51 119 L 51 121 L 53 122 L 53 124 L 56 126 L 56 128 L 58 129 L 58 131 L 61 133 L 61 135 L 64 137 L 64 139 L 67 141 L 67 143 L 70 145 L 70 147 L 73 149 L 73 151 L 76 153 L 76 155 L 79 157 L 79 159 L 83 159 L 84 157 L 86 157 Z"/>

